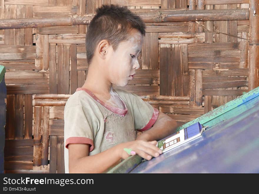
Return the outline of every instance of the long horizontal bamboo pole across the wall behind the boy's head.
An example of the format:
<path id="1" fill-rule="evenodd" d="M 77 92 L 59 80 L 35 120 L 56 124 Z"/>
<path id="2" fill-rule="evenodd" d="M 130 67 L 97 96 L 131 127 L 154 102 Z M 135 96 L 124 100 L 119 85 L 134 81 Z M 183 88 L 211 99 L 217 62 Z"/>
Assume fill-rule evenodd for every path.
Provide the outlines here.
<path id="1" fill-rule="evenodd" d="M 166 10 L 136 12 L 144 22 L 177 22 L 177 21 L 216 21 L 247 20 L 248 9 L 231 10 Z M 4 19 L 0 29 L 41 28 L 50 26 L 72 26 L 89 24 L 94 14 L 74 16 L 54 16 L 51 18 Z"/>

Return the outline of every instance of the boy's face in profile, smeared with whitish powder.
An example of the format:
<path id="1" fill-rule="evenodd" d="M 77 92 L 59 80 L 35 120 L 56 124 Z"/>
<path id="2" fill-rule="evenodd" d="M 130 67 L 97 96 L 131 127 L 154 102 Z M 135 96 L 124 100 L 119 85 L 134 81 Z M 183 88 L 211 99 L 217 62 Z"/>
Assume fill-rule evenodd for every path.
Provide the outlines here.
<path id="1" fill-rule="evenodd" d="M 113 49 L 108 59 L 109 81 L 116 86 L 126 86 L 133 79 L 136 69 L 140 68 L 138 55 L 143 44 L 142 34 L 132 29 L 130 38 L 119 43 L 117 50 Z"/>

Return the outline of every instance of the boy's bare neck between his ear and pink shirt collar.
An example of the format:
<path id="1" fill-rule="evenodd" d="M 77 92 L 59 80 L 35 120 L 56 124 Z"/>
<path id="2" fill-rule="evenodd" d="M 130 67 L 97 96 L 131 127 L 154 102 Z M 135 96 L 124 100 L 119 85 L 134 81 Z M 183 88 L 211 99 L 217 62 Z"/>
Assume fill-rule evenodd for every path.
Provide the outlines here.
<path id="1" fill-rule="evenodd" d="M 99 65 L 91 64 L 88 69 L 87 78 L 82 86 L 97 94 L 109 94 L 112 89 L 112 83 L 106 78 L 105 70 Z"/>

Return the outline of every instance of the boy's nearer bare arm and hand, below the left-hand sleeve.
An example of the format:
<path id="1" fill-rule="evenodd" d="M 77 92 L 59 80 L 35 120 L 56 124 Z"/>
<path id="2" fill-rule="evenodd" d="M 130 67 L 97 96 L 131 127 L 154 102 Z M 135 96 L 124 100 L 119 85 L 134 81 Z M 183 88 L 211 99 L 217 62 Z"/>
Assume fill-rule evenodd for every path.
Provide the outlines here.
<path id="1" fill-rule="evenodd" d="M 162 153 L 156 144 L 156 141 L 135 140 L 115 145 L 91 156 L 88 156 L 89 144 L 69 144 L 69 173 L 102 173 L 121 158 L 126 159 L 130 156 L 123 150 L 124 148 L 132 149 L 135 154 L 151 160 L 152 156 L 157 157 Z"/>

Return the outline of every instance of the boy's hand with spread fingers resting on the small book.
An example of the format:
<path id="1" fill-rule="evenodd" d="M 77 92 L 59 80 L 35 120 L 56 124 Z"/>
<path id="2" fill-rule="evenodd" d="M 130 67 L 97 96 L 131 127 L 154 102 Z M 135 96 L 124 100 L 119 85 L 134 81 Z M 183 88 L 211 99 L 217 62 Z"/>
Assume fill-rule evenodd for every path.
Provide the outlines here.
<path id="1" fill-rule="evenodd" d="M 120 145 L 120 156 L 123 159 L 126 159 L 130 155 L 124 151 L 124 148 L 132 149 L 136 152 L 137 155 L 139 155 L 142 158 L 145 158 L 146 160 L 151 160 L 153 157 L 158 157 L 160 154 L 162 154 L 162 150 L 160 150 L 158 147 L 156 147 L 157 141 L 143 141 L 143 140 L 135 140 L 131 142 L 122 143 Z"/>

